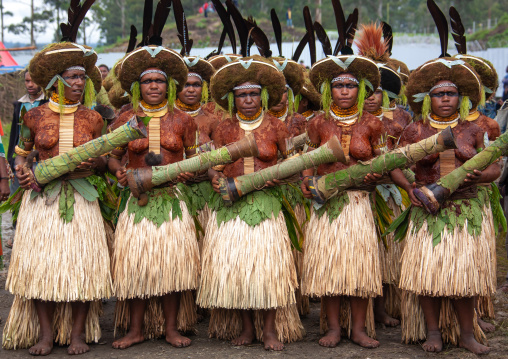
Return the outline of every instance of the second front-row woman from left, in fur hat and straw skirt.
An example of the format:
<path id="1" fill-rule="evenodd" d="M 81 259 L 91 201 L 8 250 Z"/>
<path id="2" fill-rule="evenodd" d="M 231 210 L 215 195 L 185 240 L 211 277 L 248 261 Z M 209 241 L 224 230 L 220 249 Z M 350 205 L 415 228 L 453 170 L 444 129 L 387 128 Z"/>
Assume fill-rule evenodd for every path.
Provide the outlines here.
<path id="1" fill-rule="evenodd" d="M 113 129 L 134 115 L 149 117 L 148 138 L 112 151 L 109 169 L 126 186 L 126 168 L 183 160 L 184 153 L 195 148 L 197 126 L 192 117 L 174 108 L 187 81 L 187 67 L 178 53 L 146 45 L 126 55 L 118 66 L 118 79 L 131 94 L 133 107 L 115 120 Z M 126 168 L 120 162 L 125 153 Z M 189 175 L 182 174 L 180 180 Z M 128 333 L 113 347 L 127 348 L 163 335 L 171 345 L 186 347 L 191 341 L 178 330 L 191 329 L 196 313 L 182 318 L 182 307 L 192 301 L 190 291 L 197 289 L 200 274 L 194 221 L 178 186 L 168 183 L 147 195 L 146 205 L 131 196 L 118 219 L 112 276 L 115 294 L 123 303 L 117 303 L 115 321 Z"/>

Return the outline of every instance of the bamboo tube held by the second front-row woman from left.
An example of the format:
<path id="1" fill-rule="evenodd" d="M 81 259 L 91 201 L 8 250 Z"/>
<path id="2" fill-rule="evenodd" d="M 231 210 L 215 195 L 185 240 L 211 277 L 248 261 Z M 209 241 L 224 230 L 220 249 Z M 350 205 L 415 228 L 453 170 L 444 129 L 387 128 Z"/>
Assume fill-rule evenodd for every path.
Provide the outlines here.
<path id="1" fill-rule="evenodd" d="M 153 187 L 176 180 L 184 172 L 201 172 L 213 166 L 234 162 L 242 157 L 258 156 L 254 135 L 210 152 L 203 152 L 192 158 L 166 166 L 153 166 L 127 171 L 127 181 L 132 195 L 139 199 L 140 206 L 146 205 L 146 192 Z"/>

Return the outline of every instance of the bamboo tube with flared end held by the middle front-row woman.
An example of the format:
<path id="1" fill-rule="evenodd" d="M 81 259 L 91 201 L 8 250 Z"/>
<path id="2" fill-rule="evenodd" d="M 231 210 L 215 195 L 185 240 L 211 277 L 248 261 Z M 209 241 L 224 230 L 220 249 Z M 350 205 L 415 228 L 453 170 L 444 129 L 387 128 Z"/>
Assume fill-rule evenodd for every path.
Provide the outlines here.
<path id="1" fill-rule="evenodd" d="M 240 177 L 219 178 L 222 199 L 226 206 L 231 206 L 243 195 L 262 188 L 266 181 L 284 179 L 308 168 L 337 161 L 346 163 L 346 157 L 337 136 L 333 136 L 318 149 L 294 156 L 275 166 Z"/>

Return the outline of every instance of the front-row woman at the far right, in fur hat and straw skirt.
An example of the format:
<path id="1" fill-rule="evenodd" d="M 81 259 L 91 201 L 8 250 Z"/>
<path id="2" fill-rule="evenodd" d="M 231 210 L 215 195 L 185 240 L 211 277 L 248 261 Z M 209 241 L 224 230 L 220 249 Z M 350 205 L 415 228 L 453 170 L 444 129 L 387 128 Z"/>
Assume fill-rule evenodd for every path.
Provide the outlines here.
<path id="1" fill-rule="evenodd" d="M 483 333 L 474 315 L 474 297 L 495 290 L 489 244 L 492 217 L 486 212 L 488 196 L 478 184 L 494 181 L 500 174 L 499 166 L 493 164 L 469 174 L 436 215 L 427 213 L 413 193 L 415 187 L 436 182 L 484 148 L 483 130 L 465 120 L 470 108 L 480 101 L 481 85 L 479 75 L 466 62 L 441 57 L 416 69 L 407 87 L 409 104 L 420 120 L 406 128 L 401 145 L 448 126 L 457 142 L 457 149 L 417 162 L 412 186 L 404 179 L 397 183 L 413 203 L 399 284 L 406 291 L 403 341 L 426 339 L 423 349 L 429 352 L 441 351 L 443 341 L 476 354 L 489 351 L 478 342 Z"/>

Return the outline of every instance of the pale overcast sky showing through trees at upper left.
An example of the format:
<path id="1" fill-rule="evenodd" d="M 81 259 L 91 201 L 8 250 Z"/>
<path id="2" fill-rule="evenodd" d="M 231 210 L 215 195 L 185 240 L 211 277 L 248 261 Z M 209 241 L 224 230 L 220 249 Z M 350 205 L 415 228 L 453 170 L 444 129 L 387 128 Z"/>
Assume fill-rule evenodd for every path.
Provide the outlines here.
<path id="1" fill-rule="evenodd" d="M 70 1 L 69 1 L 70 2 Z M 2 0 L 4 11 L 12 12 L 13 16 L 4 16 L 5 27 L 10 24 L 18 24 L 23 21 L 24 17 L 30 16 L 30 3 L 31 0 Z M 44 6 L 43 0 L 34 0 L 34 7 L 40 8 Z M 65 18 L 65 20 L 67 20 Z M 56 29 L 55 23 L 48 23 L 46 32 L 36 33 L 35 42 L 37 43 L 48 43 L 53 40 L 53 33 Z M 87 35 L 88 36 L 88 35 Z M 30 43 L 30 34 L 14 35 L 7 30 L 4 30 L 5 41 Z M 91 39 L 87 39 L 87 42 L 97 42 L 99 39 L 99 31 L 96 30 L 91 34 Z"/>

